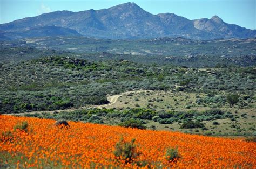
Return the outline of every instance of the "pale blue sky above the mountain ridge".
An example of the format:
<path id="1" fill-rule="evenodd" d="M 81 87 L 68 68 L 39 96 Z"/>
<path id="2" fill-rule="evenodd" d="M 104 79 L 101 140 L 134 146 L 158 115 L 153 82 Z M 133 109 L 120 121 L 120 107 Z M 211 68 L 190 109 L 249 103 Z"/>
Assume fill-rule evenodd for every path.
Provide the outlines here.
<path id="1" fill-rule="evenodd" d="M 123 0 L 0 0 L 0 23 L 37 16 L 57 10 L 83 11 L 103 9 L 126 3 Z M 256 0 L 138 0 L 130 1 L 144 10 L 175 13 L 188 19 L 218 15 L 226 23 L 256 29 Z"/>

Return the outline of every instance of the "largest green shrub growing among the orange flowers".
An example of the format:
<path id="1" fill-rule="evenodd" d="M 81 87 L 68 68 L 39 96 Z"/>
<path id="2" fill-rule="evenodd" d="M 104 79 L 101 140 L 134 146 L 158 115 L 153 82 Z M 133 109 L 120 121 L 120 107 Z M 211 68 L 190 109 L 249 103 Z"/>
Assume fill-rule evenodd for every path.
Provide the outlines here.
<path id="1" fill-rule="evenodd" d="M 134 158 L 136 158 L 137 154 L 135 152 L 135 139 L 133 138 L 131 142 L 125 142 L 123 137 L 116 143 L 116 147 L 114 150 L 114 156 L 117 159 L 125 160 L 125 163 L 131 163 Z"/>

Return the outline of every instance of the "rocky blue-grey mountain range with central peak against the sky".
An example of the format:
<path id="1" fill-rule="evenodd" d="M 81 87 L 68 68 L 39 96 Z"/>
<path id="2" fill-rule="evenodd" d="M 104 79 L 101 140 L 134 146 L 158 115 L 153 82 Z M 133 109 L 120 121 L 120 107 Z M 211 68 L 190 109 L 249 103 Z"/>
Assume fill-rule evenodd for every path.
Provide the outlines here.
<path id="1" fill-rule="evenodd" d="M 80 12 L 55 11 L 0 24 L 0 39 L 87 36 L 110 39 L 183 37 L 188 39 L 254 38 L 256 30 L 227 24 L 218 16 L 189 20 L 174 13 L 153 15 L 135 3 Z"/>

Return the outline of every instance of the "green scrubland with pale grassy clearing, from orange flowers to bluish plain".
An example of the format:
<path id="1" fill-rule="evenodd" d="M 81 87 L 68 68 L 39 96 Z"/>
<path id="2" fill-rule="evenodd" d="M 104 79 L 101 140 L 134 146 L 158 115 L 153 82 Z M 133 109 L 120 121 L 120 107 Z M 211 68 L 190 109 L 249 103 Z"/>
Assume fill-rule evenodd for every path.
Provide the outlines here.
<path id="1" fill-rule="evenodd" d="M 204 135 L 256 135 L 254 67 L 201 69 L 44 57 L 1 68 L 0 111 L 5 114 L 33 112 L 25 116 Z M 108 95 L 131 90 L 117 103 L 92 109 L 109 103 Z M 54 112 L 65 109 L 70 110 Z"/>

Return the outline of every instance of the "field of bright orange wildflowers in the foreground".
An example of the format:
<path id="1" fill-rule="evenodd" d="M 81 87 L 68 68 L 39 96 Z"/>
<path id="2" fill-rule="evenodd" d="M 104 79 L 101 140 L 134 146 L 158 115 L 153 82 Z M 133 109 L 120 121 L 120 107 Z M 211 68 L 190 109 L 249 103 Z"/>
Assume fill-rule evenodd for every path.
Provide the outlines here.
<path id="1" fill-rule="evenodd" d="M 28 122 L 28 131 L 14 126 Z M 256 168 L 256 143 L 180 132 L 69 122 L 57 128 L 52 119 L 0 116 L 0 163 L 15 167 L 82 168 Z M 120 138 L 135 139 L 137 156 L 127 163 L 114 155 Z M 179 158 L 166 159 L 177 147 Z"/>

